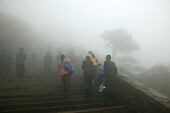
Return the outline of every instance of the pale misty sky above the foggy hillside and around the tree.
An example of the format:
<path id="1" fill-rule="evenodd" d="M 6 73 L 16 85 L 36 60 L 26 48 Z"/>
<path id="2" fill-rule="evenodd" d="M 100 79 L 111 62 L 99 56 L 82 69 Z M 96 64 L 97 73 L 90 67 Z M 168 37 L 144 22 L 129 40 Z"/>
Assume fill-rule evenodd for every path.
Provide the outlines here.
<path id="1" fill-rule="evenodd" d="M 134 56 L 142 65 L 170 64 L 169 0 L 0 0 L 0 12 L 51 40 L 103 54 L 111 53 L 100 38 L 104 31 L 124 28 L 140 46 Z"/>

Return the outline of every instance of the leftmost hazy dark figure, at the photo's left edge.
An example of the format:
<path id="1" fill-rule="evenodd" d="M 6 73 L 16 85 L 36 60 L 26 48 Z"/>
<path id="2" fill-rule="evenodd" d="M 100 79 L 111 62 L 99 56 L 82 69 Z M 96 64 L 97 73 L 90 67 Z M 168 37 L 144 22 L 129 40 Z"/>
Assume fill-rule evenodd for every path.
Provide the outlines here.
<path id="1" fill-rule="evenodd" d="M 6 49 L 4 49 L 3 53 L 0 56 L 0 75 L 3 75 L 4 71 L 5 71 L 5 75 L 9 75 L 11 65 L 12 65 L 12 56 L 8 54 Z"/>

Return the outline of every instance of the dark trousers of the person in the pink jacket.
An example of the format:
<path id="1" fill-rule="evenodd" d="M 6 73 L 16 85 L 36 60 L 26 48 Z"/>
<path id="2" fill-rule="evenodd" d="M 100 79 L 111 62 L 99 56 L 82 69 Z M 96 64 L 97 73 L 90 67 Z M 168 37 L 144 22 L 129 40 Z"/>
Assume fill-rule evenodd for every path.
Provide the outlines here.
<path id="1" fill-rule="evenodd" d="M 71 74 L 65 74 L 61 76 L 64 85 L 64 94 L 66 96 L 70 95 L 70 85 L 71 85 Z"/>

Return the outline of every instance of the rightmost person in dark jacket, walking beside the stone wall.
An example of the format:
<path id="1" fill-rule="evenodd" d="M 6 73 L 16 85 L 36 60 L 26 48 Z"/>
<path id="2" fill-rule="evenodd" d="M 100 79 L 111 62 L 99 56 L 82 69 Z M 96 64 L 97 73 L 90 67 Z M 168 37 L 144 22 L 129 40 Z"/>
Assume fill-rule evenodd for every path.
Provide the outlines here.
<path id="1" fill-rule="evenodd" d="M 114 80 L 117 75 L 117 68 L 114 62 L 111 61 L 111 56 L 106 56 L 106 61 L 104 62 L 104 79 L 107 90 L 110 93 L 111 98 L 114 99 Z"/>

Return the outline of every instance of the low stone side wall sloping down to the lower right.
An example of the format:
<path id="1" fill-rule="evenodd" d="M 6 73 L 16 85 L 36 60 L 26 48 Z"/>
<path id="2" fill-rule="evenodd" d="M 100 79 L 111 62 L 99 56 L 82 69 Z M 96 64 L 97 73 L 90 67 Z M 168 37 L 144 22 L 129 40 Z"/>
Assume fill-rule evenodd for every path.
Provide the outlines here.
<path id="1" fill-rule="evenodd" d="M 116 77 L 115 92 L 132 113 L 170 113 L 168 97 L 126 75 Z"/>

